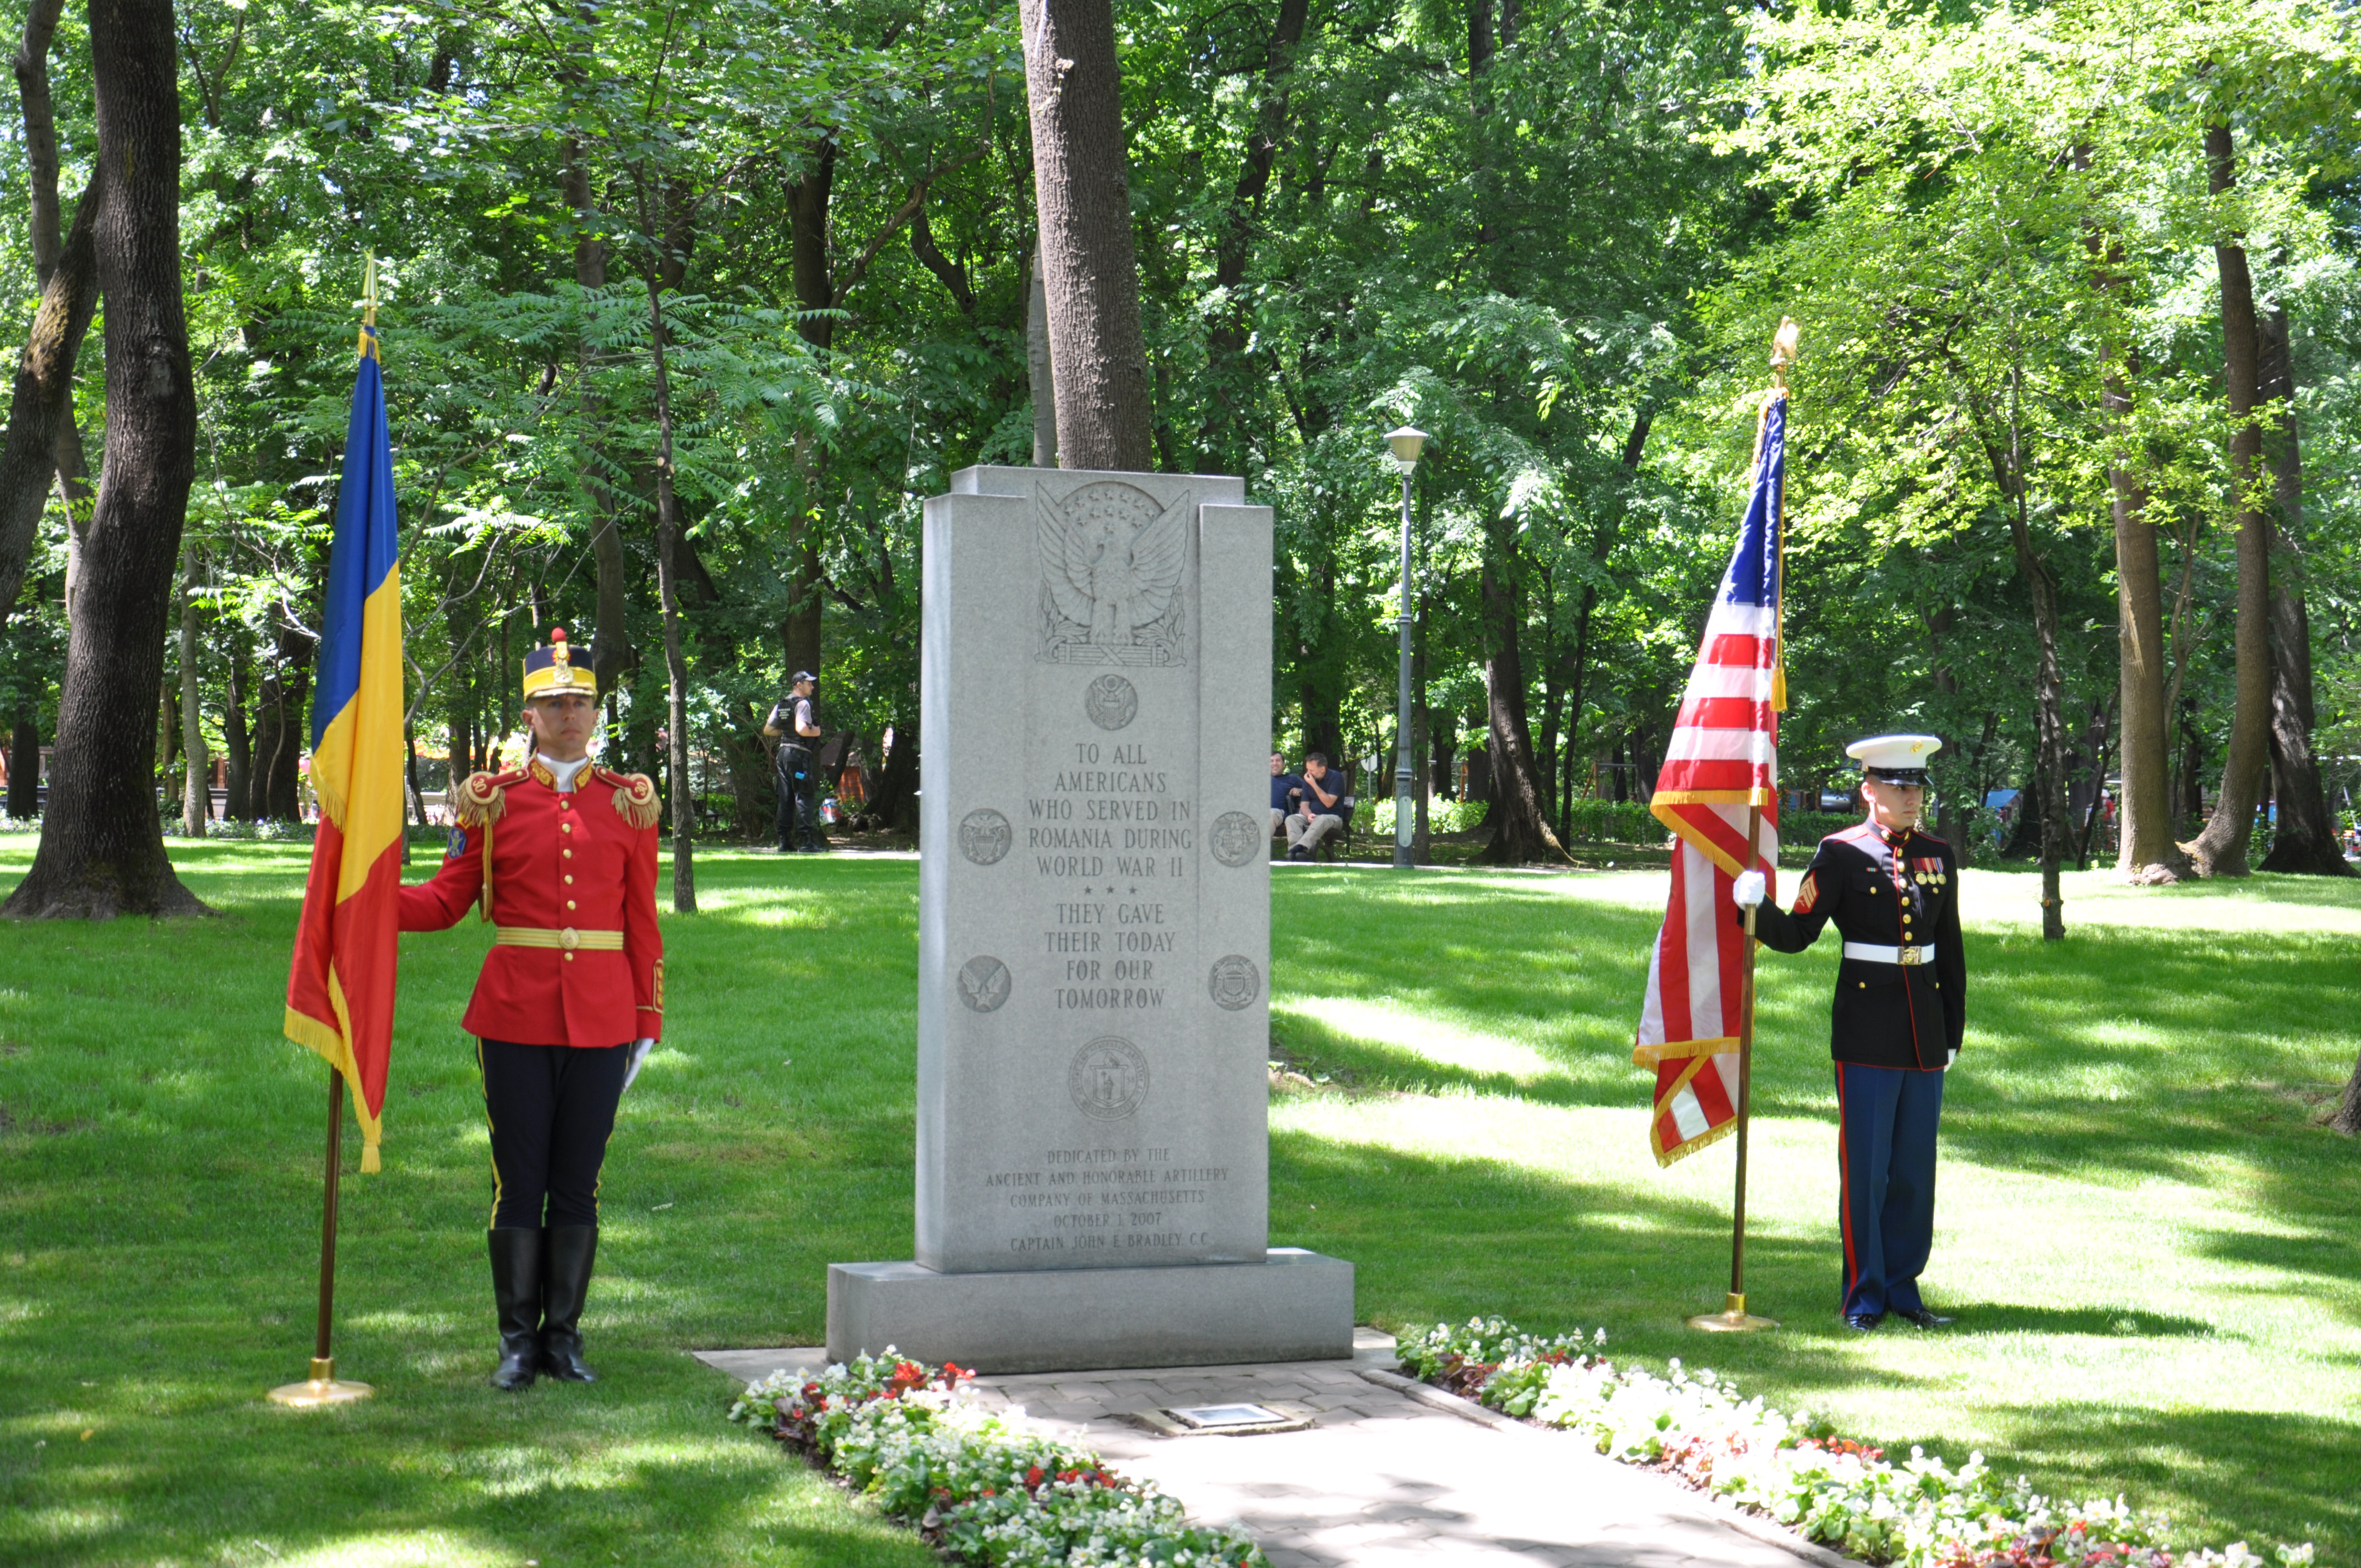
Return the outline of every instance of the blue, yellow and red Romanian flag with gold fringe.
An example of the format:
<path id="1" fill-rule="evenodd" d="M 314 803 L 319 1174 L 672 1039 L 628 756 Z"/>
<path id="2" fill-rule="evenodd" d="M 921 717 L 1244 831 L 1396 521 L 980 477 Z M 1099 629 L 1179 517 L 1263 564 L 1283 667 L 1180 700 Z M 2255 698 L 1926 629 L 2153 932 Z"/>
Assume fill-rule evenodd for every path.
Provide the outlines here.
<path id="1" fill-rule="evenodd" d="M 378 328 L 364 326 L 312 701 L 312 786 L 321 819 L 286 1020 L 288 1039 L 326 1056 L 352 1086 L 364 1171 L 378 1169 L 401 935 L 401 574 L 394 545 L 385 375 Z"/>

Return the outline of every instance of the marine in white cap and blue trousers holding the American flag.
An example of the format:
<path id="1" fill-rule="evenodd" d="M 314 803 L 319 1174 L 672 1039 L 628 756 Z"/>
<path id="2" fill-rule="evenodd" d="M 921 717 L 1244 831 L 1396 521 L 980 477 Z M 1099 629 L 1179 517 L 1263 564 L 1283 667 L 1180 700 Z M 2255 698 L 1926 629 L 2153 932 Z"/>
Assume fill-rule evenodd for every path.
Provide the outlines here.
<path id="1" fill-rule="evenodd" d="M 1761 874 L 1738 902 L 1759 902 L 1754 935 L 1804 952 L 1830 921 L 1844 937 L 1830 1046 L 1837 1058 L 1837 1171 L 1844 1233 L 1844 1322 L 1875 1329 L 1886 1313 L 1919 1327 L 1919 1273 L 1934 1247 L 1934 1145 L 1943 1072 L 1967 1025 L 1960 952 L 1960 857 L 1917 831 L 1931 734 L 1853 741 L 1870 817 L 1820 841 L 1794 907 L 1761 902 Z M 1752 897 L 1750 897 L 1752 895 Z M 1740 909 L 1740 921 L 1745 909 Z"/>

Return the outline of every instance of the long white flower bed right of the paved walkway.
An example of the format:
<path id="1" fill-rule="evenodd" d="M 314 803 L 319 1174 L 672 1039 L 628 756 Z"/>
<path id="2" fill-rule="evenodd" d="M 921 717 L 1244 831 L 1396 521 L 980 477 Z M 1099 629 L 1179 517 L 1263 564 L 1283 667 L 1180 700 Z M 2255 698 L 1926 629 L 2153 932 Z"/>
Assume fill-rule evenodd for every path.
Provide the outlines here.
<path id="1" fill-rule="evenodd" d="M 1506 1415 L 1561 1426 L 1627 1464 L 1672 1471 L 1688 1485 L 1792 1525 L 1870 1563 L 1901 1568 L 2267 1568 L 2231 1542 L 2174 1559 L 2165 1518 L 2123 1497 L 2061 1502 L 2019 1476 L 2002 1483 L 1983 1455 L 1960 1469 L 1912 1448 L 1896 1464 L 1877 1448 L 1787 1417 L 1712 1372 L 1667 1377 L 1615 1367 L 1591 1339 L 1537 1339 L 1502 1318 L 1438 1322 L 1400 1341 L 1402 1363 L 1431 1384 Z M 2281 1568 L 2311 1561 L 2311 1544 L 2278 1547 Z"/>

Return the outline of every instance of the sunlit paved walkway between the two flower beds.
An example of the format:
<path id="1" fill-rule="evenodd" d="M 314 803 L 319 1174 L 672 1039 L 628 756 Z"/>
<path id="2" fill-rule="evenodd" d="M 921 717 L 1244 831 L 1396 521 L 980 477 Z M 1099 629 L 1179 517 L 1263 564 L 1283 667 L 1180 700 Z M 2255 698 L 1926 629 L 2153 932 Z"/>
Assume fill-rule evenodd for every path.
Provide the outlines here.
<path id="1" fill-rule="evenodd" d="M 706 1351 L 732 1377 L 817 1367 L 822 1351 Z M 982 1377 L 977 1396 L 1155 1481 L 1204 1523 L 1240 1523 L 1275 1568 L 1568 1563 L 1580 1568 L 1856 1568 L 1665 1476 L 1615 1464 L 1395 1377 L 1393 1339 L 1350 1363 Z M 1291 1431 L 1159 1431 L 1183 1405 L 1256 1403 Z M 1171 1426 L 1169 1419 L 1159 1422 Z"/>

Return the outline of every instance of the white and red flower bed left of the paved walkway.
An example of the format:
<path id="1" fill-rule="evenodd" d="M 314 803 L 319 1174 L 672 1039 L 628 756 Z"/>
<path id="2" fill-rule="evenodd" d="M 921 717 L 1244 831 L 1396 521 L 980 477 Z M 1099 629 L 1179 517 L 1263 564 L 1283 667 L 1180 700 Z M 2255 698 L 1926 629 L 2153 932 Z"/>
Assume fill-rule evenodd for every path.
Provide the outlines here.
<path id="1" fill-rule="evenodd" d="M 843 1476 L 944 1554 L 992 1568 L 1268 1568 L 1237 1530 L 1190 1525 L 1180 1504 L 1058 1443 L 1022 1412 L 959 1393 L 959 1367 L 888 1346 L 817 1377 L 772 1372 L 730 1407 Z"/>

